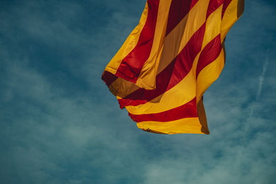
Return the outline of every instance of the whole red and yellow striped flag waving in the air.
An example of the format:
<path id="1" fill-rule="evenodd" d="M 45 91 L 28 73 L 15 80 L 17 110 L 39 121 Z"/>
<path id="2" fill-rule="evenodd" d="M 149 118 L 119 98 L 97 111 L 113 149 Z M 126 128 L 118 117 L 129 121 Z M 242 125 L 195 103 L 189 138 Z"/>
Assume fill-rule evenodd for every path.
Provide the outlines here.
<path id="1" fill-rule="evenodd" d="M 101 79 L 141 130 L 209 134 L 203 94 L 244 0 L 148 0 Z"/>

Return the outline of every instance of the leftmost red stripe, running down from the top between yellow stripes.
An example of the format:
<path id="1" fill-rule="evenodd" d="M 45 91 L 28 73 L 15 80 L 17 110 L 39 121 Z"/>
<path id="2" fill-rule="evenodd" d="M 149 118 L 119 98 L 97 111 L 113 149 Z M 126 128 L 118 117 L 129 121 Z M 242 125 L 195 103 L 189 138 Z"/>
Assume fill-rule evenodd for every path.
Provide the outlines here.
<path id="1" fill-rule="evenodd" d="M 132 83 L 136 83 L 144 63 L 150 56 L 150 50 L 155 35 L 158 7 L 159 0 L 148 0 L 148 17 L 144 28 L 141 30 L 137 45 L 121 61 L 116 76 L 131 81 Z"/>

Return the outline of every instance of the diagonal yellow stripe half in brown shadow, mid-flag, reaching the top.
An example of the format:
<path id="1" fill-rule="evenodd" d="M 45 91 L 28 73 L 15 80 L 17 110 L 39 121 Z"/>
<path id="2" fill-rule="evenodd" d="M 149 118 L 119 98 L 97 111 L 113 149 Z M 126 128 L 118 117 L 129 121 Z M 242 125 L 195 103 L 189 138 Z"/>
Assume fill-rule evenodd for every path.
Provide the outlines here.
<path id="1" fill-rule="evenodd" d="M 157 74 L 170 64 L 193 34 L 204 24 L 208 3 L 208 0 L 199 0 L 186 17 L 166 36 Z"/>

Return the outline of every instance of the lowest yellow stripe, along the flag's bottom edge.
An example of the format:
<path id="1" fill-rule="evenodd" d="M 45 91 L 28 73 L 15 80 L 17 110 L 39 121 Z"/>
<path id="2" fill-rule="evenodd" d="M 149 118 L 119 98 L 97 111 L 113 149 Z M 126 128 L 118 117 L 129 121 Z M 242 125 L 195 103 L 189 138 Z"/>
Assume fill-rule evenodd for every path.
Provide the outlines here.
<path id="1" fill-rule="evenodd" d="M 160 132 L 164 134 L 204 134 L 201 131 L 201 124 L 198 118 L 186 118 L 176 121 L 158 122 L 158 121 L 143 121 L 137 123 L 137 127 L 141 130 Z"/>

